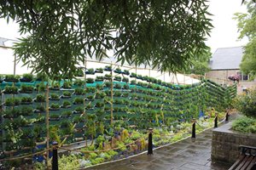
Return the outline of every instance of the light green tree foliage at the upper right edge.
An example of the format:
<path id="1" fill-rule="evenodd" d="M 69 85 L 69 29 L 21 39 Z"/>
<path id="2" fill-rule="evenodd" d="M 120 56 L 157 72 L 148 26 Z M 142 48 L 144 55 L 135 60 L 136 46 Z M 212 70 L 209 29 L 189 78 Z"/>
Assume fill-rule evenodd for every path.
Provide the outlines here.
<path id="1" fill-rule="evenodd" d="M 248 37 L 249 42 L 244 47 L 241 61 L 241 71 L 251 76 L 256 76 L 256 3 L 247 2 L 247 14 L 237 13 L 235 19 L 238 21 L 240 37 Z"/>

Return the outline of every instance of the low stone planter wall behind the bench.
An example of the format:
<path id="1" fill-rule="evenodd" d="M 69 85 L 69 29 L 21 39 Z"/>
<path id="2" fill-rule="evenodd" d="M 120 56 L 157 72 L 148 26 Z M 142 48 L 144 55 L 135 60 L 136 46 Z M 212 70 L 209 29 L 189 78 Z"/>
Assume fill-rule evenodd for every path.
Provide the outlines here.
<path id="1" fill-rule="evenodd" d="M 239 145 L 256 147 L 256 134 L 232 131 L 232 122 L 212 133 L 212 161 L 233 164 L 240 155 Z"/>

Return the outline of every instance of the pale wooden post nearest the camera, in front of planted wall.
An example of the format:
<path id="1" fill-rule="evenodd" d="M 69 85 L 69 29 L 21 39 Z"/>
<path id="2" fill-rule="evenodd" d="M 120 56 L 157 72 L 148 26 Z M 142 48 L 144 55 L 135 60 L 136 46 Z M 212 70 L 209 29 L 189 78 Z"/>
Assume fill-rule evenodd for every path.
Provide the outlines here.
<path id="1" fill-rule="evenodd" d="M 46 101 L 46 167 L 49 169 L 49 83 L 46 84 L 46 93 L 45 93 L 45 101 Z"/>

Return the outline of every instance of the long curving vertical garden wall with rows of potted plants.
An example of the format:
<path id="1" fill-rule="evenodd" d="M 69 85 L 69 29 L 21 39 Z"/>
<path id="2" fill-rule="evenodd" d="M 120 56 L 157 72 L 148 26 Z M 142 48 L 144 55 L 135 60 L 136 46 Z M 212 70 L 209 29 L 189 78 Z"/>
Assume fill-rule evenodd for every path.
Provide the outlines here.
<path id="1" fill-rule="evenodd" d="M 173 85 L 129 71 L 99 68 L 96 78 L 51 81 L 49 88 L 49 141 L 71 144 L 95 139 L 113 127 L 148 129 L 224 111 L 236 96 L 236 84 L 223 88 L 201 80 L 192 85 Z M 27 75 L 26 75 L 27 76 Z M 46 83 L 39 77 L 1 77 L 3 156 L 20 155 L 46 147 Z M 81 75 L 83 76 L 83 72 Z"/>

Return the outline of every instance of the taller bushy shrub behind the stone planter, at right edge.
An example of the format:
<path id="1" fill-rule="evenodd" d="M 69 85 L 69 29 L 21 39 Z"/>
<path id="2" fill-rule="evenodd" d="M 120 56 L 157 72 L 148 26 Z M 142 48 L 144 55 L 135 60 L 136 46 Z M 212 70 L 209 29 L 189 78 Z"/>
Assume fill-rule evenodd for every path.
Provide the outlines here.
<path id="1" fill-rule="evenodd" d="M 256 88 L 249 89 L 247 95 L 237 96 L 234 107 L 246 116 L 256 117 Z"/>

